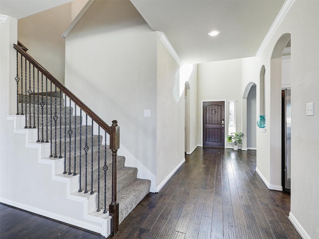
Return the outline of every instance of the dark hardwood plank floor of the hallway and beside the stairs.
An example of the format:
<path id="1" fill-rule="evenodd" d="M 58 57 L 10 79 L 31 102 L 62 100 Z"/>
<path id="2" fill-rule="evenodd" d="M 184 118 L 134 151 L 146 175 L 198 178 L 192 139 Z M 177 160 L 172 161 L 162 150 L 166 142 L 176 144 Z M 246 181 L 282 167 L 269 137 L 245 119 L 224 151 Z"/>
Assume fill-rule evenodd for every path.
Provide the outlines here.
<path id="1" fill-rule="evenodd" d="M 112 239 L 301 239 L 290 196 L 268 190 L 255 168 L 256 151 L 197 148 Z M 0 239 L 58 238 L 103 237 L 0 205 Z"/>

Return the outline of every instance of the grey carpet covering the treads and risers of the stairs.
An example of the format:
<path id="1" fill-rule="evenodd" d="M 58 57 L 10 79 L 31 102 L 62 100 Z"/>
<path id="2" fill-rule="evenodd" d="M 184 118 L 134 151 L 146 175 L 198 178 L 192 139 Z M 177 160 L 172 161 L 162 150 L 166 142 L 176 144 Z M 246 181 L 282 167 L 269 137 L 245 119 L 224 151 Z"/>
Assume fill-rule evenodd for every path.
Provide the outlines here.
<path id="1" fill-rule="evenodd" d="M 51 97 L 52 95 L 52 97 Z M 92 126 L 83 125 L 82 118 L 79 116 L 79 110 L 77 116 L 73 116 L 74 109 L 72 107 L 64 106 L 64 99 L 54 97 L 54 93 L 22 96 L 19 95 L 18 112 L 21 114 L 27 114 L 26 125 L 27 126 L 39 126 L 39 140 L 50 140 L 52 134 L 52 155 L 66 157 L 66 172 L 74 171 L 79 174 L 81 166 L 81 189 L 83 193 L 87 190 L 87 193 L 98 192 L 98 178 L 100 181 L 100 191 L 104 190 L 104 151 L 106 150 L 106 162 L 108 170 L 106 171 L 106 207 L 111 202 L 111 186 L 112 186 L 112 151 L 109 146 L 105 147 L 104 135 L 92 135 Z M 57 94 L 59 95 L 59 93 Z M 22 103 L 23 102 L 23 103 Z M 44 103 L 43 110 L 38 102 Z M 59 106 L 62 105 L 60 108 Z M 56 113 L 55 113 L 56 112 Z M 61 113 L 61 114 L 60 114 Z M 43 115 L 43 118 L 42 118 Z M 38 120 L 39 116 L 39 120 Z M 57 116 L 57 127 L 55 128 L 54 116 Z M 61 118 L 61 119 L 60 119 Z M 39 122 L 38 122 L 39 121 Z M 61 121 L 61 127 L 60 125 Z M 42 127 L 43 125 L 43 127 Z M 69 129 L 72 131 L 72 136 L 68 134 Z M 74 134 L 76 133 L 76 138 Z M 80 140 L 80 134 L 81 140 Z M 42 138 L 43 135 L 43 138 Z M 60 137 L 61 135 L 61 137 Z M 60 148 L 61 140 L 61 148 Z M 64 143 L 64 140 L 66 141 Z M 55 147 L 56 142 L 56 147 Z M 84 150 L 85 146 L 89 148 Z M 92 147 L 93 146 L 93 147 Z M 98 151 L 103 153 L 98 153 Z M 61 151 L 61 152 L 60 152 Z M 92 163 L 93 153 L 93 163 Z M 81 155 L 81 165 L 80 165 Z M 49 156 L 49 155 L 48 155 Z M 99 162 L 100 157 L 100 162 Z M 71 158 L 69 164 L 69 158 Z M 74 159 L 76 159 L 74 169 Z M 93 170 L 92 170 L 93 168 Z M 92 172 L 93 171 L 93 188 Z M 85 172 L 87 175 L 85 176 Z M 119 222 L 121 223 L 129 213 L 137 206 L 137 204 L 150 192 L 151 181 L 146 179 L 137 178 L 137 168 L 126 167 L 125 157 L 117 156 L 117 201 L 119 202 Z M 62 172 L 61 172 L 62 173 Z M 98 202 L 98 199 L 97 199 Z M 104 210 L 104 193 L 100 193 L 99 208 Z"/>

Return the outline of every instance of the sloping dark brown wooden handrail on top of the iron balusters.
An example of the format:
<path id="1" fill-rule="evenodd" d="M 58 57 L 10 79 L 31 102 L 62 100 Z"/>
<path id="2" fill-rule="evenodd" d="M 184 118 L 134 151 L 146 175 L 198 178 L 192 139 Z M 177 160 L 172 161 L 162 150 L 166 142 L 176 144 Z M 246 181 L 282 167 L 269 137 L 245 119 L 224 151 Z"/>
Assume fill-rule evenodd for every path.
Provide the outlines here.
<path id="1" fill-rule="evenodd" d="M 100 125 L 108 134 L 110 134 L 110 126 L 100 117 L 98 117 L 89 107 L 87 107 L 79 98 L 77 98 L 69 89 L 67 89 L 61 82 L 52 76 L 43 66 L 34 60 L 28 53 L 27 48 L 20 42 L 13 44 L 13 48 L 23 55 L 29 62 L 33 64 L 45 77 L 47 77 L 54 85 L 57 86 L 67 97 L 69 97 L 78 107 L 82 109 L 91 119 Z"/>

